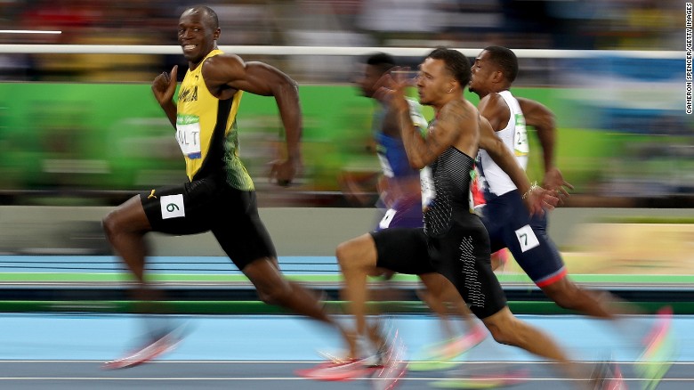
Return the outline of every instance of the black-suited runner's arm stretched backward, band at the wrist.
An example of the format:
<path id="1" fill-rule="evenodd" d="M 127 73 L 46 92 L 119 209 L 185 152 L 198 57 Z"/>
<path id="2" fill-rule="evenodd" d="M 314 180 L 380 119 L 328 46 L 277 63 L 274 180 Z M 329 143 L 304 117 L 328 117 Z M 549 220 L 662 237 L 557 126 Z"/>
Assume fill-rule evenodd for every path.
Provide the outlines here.
<path id="1" fill-rule="evenodd" d="M 518 191 L 523 194 L 523 201 L 526 202 L 531 214 L 542 213 L 543 207 L 552 209 L 557 204 L 559 199 L 530 184 L 528 175 L 520 167 L 512 152 L 506 148 L 504 142 L 494 134 L 487 118 L 484 117 L 480 117 L 480 148 L 487 150 L 489 157 L 504 170 L 506 175 L 509 175 Z"/>

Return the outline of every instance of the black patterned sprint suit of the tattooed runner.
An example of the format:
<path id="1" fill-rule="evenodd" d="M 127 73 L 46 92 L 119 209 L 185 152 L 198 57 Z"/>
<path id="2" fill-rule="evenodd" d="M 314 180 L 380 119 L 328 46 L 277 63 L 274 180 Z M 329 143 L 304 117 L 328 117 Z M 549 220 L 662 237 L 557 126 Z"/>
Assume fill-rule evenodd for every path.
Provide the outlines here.
<path id="1" fill-rule="evenodd" d="M 506 305 L 491 270 L 489 238 L 471 205 L 474 159 L 453 147 L 422 170 L 424 228 L 371 233 L 376 264 L 394 272 L 439 272 L 472 313 L 486 318 Z M 423 260 L 428 259 L 428 261 Z"/>

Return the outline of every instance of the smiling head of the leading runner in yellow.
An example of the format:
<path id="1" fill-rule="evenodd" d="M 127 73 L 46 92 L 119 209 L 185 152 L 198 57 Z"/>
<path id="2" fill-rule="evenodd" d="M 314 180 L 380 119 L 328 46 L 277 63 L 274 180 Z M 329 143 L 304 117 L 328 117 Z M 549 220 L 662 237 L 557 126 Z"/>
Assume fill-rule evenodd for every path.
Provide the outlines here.
<path id="1" fill-rule="evenodd" d="M 178 42 L 183 56 L 197 66 L 217 47 L 220 32 L 219 18 L 212 8 L 198 5 L 185 10 L 178 22 Z"/>

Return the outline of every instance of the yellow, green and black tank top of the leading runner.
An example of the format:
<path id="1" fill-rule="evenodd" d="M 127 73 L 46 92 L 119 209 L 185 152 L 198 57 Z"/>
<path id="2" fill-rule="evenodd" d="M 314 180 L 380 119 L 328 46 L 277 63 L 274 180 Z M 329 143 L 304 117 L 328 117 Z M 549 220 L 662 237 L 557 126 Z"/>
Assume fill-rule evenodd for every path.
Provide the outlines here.
<path id="1" fill-rule="evenodd" d="M 203 63 L 222 54 L 213 50 L 198 68 L 188 69 L 178 93 L 176 141 L 186 160 L 190 181 L 209 175 L 222 175 L 230 186 L 254 190 L 251 176 L 238 158 L 236 115 L 241 102 L 238 91 L 228 100 L 219 100 L 207 90 Z"/>

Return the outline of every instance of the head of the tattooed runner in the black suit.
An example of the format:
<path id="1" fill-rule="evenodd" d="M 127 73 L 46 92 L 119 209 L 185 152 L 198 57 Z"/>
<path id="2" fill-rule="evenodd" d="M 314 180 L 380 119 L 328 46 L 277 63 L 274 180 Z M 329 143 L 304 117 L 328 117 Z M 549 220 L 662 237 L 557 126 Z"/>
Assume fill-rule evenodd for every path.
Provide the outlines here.
<path id="1" fill-rule="evenodd" d="M 419 66 L 419 102 L 433 106 L 448 102 L 449 98 L 459 97 L 469 82 L 470 62 L 463 53 L 443 47 L 434 49 Z"/>

